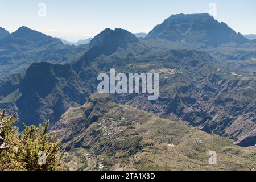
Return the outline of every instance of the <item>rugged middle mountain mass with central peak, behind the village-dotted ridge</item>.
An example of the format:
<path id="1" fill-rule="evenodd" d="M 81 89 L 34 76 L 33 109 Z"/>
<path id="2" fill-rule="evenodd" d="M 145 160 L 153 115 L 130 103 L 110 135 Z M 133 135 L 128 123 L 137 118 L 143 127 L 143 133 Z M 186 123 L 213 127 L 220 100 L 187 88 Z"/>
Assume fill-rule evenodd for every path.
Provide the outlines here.
<path id="1" fill-rule="evenodd" d="M 148 101 L 143 94 L 117 94 L 115 101 L 228 137 L 243 147 L 254 146 L 255 60 L 230 64 L 216 60 L 214 51 L 210 55 L 207 50 L 176 45 L 106 29 L 76 63 L 34 63 L 18 81 L 0 82 L 0 108 L 18 110 L 19 117 L 29 123 L 46 119 L 55 123 L 70 106 L 81 106 L 97 92 L 99 73 L 109 73 L 111 68 L 117 73 L 159 73 L 158 100 Z"/>

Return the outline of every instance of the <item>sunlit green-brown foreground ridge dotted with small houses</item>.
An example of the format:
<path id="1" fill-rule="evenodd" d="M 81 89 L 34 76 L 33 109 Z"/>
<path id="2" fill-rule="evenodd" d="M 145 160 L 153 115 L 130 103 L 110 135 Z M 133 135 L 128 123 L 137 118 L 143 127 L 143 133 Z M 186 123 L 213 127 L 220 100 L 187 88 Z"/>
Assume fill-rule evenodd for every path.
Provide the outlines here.
<path id="1" fill-rule="evenodd" d="M 51 131 L 63 139 L 64 160 L 73 169 L 246 170 L 255 164 L 255 147 L 234 146 L 226 138 L 116 104 L 106 94 L 70 108 Z M 217 152 L 217 165 L 209 164 L 210 151 Z"/>

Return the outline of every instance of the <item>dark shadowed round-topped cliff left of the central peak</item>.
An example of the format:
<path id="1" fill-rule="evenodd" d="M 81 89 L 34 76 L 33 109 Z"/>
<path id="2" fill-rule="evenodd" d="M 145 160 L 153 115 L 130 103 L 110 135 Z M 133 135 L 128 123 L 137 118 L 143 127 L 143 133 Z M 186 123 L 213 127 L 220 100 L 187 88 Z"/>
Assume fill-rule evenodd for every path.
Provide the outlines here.
<path id="1" fill-rule="evenodd" d="M 15 103 L 19 117 L 28 125 L 57 121 L 69 107 L 86 101 L 86 87 L 80 84 L 71 64 L 32 64 L 20 81 L 19 92 L 22 95 Z"/>

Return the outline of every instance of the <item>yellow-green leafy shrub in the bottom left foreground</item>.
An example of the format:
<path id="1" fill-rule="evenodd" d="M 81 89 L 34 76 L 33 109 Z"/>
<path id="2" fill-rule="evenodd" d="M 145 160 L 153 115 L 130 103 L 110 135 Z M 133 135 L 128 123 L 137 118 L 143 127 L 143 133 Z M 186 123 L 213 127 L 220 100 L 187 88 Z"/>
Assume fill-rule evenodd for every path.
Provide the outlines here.
<path id="1" fill-rule="evenodd" d="M 0 114 L 0 171 L 63 170 L 61 141 L 47 133 L 49 121 L 38 127 L 23 124 L 24 130 L 19 132 L 15 115 Z"/>

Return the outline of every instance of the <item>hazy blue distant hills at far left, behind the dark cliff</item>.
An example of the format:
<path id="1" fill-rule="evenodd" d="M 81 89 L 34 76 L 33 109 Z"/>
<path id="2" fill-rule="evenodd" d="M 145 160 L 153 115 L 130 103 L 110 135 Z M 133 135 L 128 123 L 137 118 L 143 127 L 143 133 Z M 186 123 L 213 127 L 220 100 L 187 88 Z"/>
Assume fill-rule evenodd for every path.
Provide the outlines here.
<path id="1" fill-rule="evenodd" d="M 64 45 L 59 39 L 20 27 L 0 40 L 0 77 L 25 71 L 31 63 L 68 63 L 79 60 L 86 46 Z"/>

